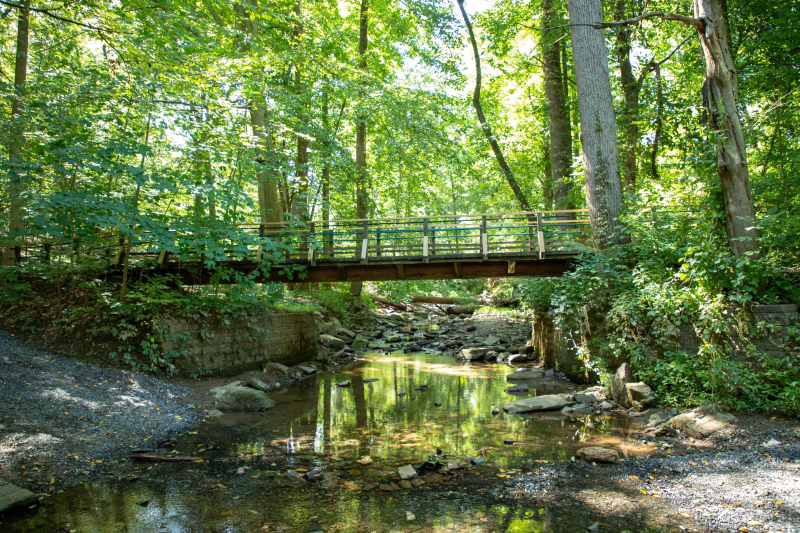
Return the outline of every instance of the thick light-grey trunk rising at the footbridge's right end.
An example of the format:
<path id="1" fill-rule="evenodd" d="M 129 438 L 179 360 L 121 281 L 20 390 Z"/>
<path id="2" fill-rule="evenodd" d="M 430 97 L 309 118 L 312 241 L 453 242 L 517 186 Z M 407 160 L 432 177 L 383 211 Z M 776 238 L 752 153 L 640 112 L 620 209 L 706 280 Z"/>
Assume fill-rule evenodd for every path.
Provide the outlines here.
<path id="1" fill-rule="evenodd" d="M 602 31 L 591 27 L 602 21 L 600 0 L 567 0 L 570 11 L 575 84 L 581 115 L 581 151 L 586 204 L 598 248 L 620 244 L 617 230 L 622 210 L 614 102 L 608 74 L 608 50 Z"/>

